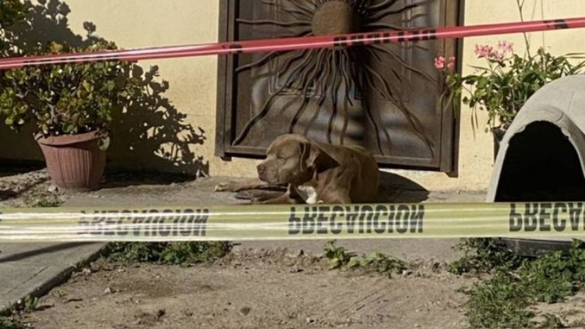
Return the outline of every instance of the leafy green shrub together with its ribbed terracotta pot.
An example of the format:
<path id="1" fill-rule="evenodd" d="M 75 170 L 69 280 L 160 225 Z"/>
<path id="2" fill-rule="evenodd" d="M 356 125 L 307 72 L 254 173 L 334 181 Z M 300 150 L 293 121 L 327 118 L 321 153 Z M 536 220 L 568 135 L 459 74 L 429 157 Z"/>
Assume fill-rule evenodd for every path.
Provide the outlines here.
<path id="1" fill-rule="evenodd" d="M 98 41 L 71 48 L 53 42 L 48 51 L 96 52 L 116 49 Z M 0 91 L 0 114 L 15 130 L 29 121 L 54 185 L 95 190 L 106 164 L 111 113 L 128 106 L 140 92 L 130 63 L 74 63 L 9 70 Z"/>

